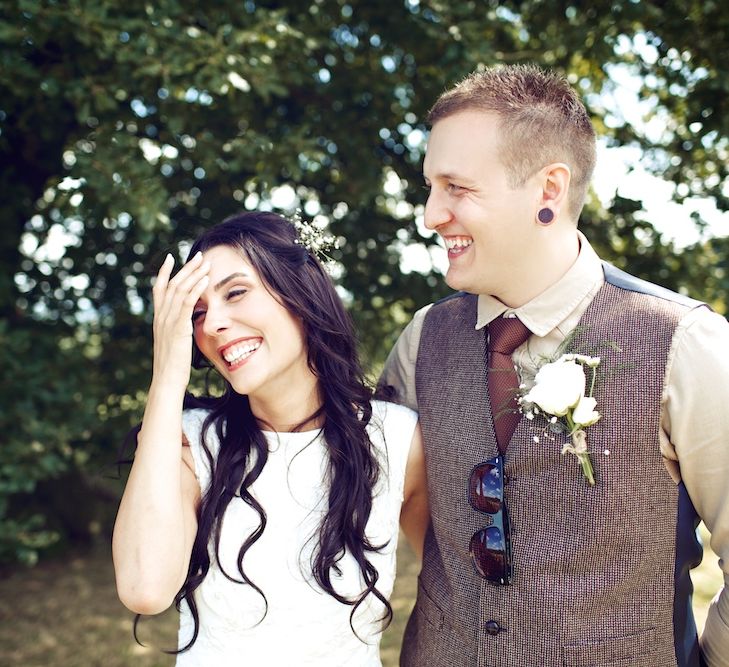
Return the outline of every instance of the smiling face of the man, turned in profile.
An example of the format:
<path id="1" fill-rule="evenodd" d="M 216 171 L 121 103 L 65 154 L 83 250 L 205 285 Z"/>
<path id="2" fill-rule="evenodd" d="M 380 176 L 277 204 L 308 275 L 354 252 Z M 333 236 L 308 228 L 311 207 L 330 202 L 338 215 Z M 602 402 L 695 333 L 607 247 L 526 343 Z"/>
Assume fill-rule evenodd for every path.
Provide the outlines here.
<path id="1" fill-rule="evenodd" d="M 492 113 L 468 110 L 436 122 L 423 164 L 425 225 L 443 238 L 450 287 L 515 306 L 514 283 L 533 275 L 529 263 L 538 257 L 541 187 L 536 177 L 509 184 L 500 139 Z"/>

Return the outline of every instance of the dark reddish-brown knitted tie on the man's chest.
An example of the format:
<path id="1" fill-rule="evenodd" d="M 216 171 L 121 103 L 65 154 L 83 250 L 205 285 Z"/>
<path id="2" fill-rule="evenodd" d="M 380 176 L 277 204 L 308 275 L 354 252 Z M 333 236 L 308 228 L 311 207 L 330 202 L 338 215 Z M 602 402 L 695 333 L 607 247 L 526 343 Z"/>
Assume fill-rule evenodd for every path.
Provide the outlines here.
<path id="1" fill-rule="evenodd" d="M 519 378 L 511 355 L 530 334 L 517 317 L 497 317 L 489 324 L 489 397 L 502 454 L 521 418 L 516 401 Z"/>

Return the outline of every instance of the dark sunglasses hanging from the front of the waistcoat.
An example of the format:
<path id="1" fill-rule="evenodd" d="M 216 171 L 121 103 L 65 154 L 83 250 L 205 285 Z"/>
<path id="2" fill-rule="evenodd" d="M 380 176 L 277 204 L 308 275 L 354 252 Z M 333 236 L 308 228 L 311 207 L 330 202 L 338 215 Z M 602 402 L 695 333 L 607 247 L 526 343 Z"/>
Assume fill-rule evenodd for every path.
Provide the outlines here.
<path id="1" fill-rule="evenodd" d="M 504 460 L 495 456 L 479 463 L 468 479 L 468 502 L 491 523 L 474 533 L 469 544 L 473 565 L 484 579 L 511 583 L 511 541 L 509 516 L 504 503 Z"/>

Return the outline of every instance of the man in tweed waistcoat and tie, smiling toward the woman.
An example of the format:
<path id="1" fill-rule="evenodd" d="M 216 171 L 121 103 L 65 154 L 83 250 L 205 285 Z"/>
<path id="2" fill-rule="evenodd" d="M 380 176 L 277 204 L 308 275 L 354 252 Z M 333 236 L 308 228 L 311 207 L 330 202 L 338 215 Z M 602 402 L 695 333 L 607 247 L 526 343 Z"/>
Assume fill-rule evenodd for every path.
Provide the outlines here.
<path id="1" fill-rule="evenodd" d="M 566 80 L 487 69 L 429 121 L 425 224 L 459 291 L 415 315 L 381 379 L 420 413 L 432 516 L 401 664 L 729 666 L 729 594 L 699 642 L 688 574 L 702 519 L 729 581 L 729 324 L 578 231 L 595 134 Z M 562 408 L 515 397 L 565 350 L 597 365 L 594 485 Z"/>

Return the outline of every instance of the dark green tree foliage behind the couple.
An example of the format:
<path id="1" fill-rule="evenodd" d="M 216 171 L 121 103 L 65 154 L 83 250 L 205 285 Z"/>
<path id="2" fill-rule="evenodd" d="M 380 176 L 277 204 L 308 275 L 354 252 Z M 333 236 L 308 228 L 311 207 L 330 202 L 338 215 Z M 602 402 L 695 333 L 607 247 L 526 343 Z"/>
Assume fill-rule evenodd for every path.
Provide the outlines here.
<path id="1" fill-rule="evenodd" d="M 480 65 L 565 72 L 611 145 L 644 151 L 677 200 L 727 209 L 726 3 L 201 7 L 0 7 L 1 559 L 31 560 L 68 532 L 31 494 L 113 460 L 139 418 L 149 281 L 164 252 L 270 205 L 275 188 L 290 186 L 290 208 L 325 216 L 344 240 L 340 283 L 366 358 L 383 359 L 412 311 L 445 293 L 433 272 L 403 274 L 400 252 L 435 243 L 413 222 L 427 109 Z M 627 122 L 617 74 L 640 82 L 645 123 Z M 605 257 L 726 311 L 726 242 L 678 254 L 641 202 L 620 197 L 607 210 L 592 202 L 583 228 Z"/>

